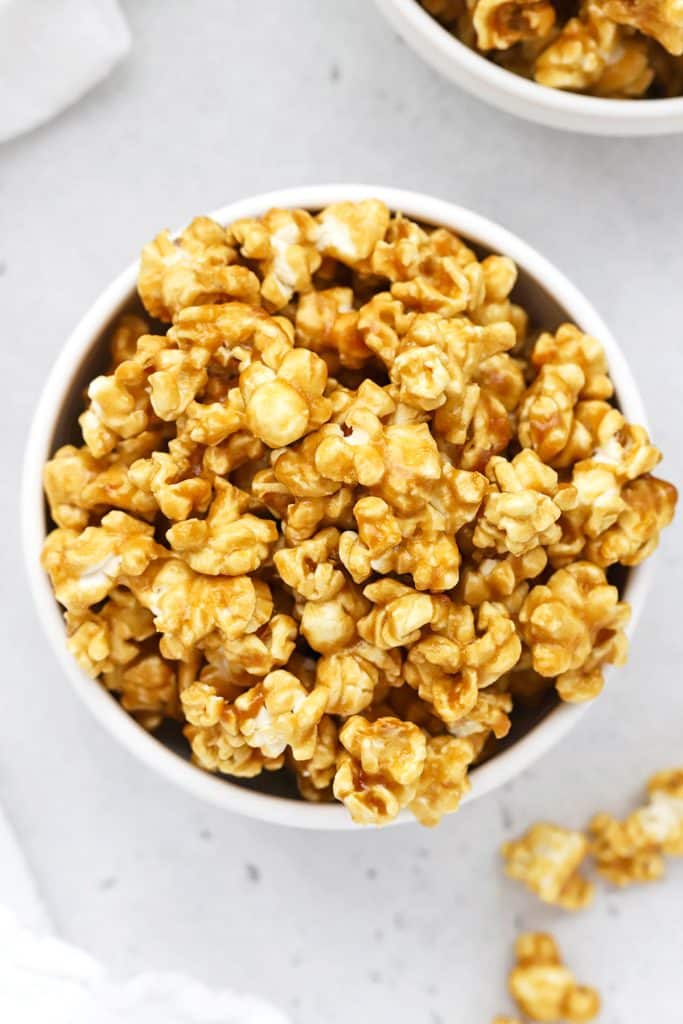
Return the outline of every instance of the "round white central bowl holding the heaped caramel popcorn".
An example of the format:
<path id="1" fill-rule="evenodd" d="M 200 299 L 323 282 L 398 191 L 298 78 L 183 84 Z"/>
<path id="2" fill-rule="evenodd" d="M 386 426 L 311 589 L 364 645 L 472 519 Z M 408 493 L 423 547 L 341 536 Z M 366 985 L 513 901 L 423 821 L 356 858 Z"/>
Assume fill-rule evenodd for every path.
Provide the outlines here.
<path id="1" fill-rule="evenodd" d="M 520 270 L 519 294 L 538 323 L 552 328 L 566 318 L 599 338 L 607 353 L 621 408 L 630 420 L 645 422 L 640 395 L 624 355 L 587 299 L 533 249 L 503 227 L 469 210 L 418 193 L 375 185 L 340 184 L 305 186 L 255 196 L 225 206 L 212 216 L 228 223 L 239 217 L 259 216 L 273 206 L 318 210 L 340 200 L 369 197 L 377 197 L 390 209 L 400 210 L 417 220 L 452 228 L 483 250 L 510 256 Z M 65 443 L 70 434 L 75 436 L 83 386 L 98 371 L 112 323 L 133 300 L 136 275 L 137 264 L 134 263 L 112 282 L 88 310 L 59 354 L 36 407 L 24 465 L 22 520 L 29 579 L 43 629 L 68 679 L 100 724 L 142 762 L 183 790 L 227 810 L 276 824 L 302 828 L 353 828 L 355 825 L 341 804 L 309 804 L 259 793 L 245 788 L 225 776 L 210 775 L 195 767 L 186 758 L 137 725 L 98 682 L 83 672 L 67 649 L 61 610 L 40 565 L 47 527 L 42 472 L 55 447 Z M 628 575 L 624 596 L 633 607 L 631 629 L 643 605 L 648 575 L 646 567 L 633 569 Z M 472 771 L 472 790 L 467 799 L 483 796 L 527 768 L 569 731 L 585 709 L 585 705 L 555 707 L 516 742 Z M 414 819 L 403 813 L 399 820 Z"/>

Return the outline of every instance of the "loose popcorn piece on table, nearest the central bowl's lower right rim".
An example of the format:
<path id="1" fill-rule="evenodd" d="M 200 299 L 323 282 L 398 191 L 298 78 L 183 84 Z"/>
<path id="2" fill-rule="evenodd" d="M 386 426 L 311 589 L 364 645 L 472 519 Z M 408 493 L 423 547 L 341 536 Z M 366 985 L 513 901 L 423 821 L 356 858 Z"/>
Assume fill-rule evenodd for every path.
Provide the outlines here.
<path id="1" fill-rule="evenodd" d="M 581 833 L 540 822 L 520 839 L 505 843 L 502 853 L 506 874 L 522 882 L 544 903 L 580 910 L 592 902 L 594 887 L 579 873 L 588 854 Z"/>

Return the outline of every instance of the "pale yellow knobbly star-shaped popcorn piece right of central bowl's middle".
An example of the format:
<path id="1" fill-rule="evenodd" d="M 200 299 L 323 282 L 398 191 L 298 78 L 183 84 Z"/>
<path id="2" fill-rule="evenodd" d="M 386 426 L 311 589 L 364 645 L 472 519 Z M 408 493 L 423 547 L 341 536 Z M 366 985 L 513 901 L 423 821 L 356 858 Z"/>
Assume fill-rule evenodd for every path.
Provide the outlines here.
<path id="1" fill-rule="evenodd" d="M 575 505 L 575 490 L 559 484 L 535 452 L 525 449 L 510 462 L 495 456 L 486 473 L 492 487 L 474 530 L 476 547 L 523 555 L 559 540 L 557 520 Z"/>

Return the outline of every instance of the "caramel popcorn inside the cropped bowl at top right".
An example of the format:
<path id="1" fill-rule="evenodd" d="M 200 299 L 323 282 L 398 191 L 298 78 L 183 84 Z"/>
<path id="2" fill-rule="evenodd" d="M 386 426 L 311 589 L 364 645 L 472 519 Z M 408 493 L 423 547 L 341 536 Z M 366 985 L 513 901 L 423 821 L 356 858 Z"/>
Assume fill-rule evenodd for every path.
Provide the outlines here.
<path id="1" fill-rule="evenodd" d="M 471 49 L 540 85 L 608 99 L 683 91 L 681 0 L 420 0 Z"/>

